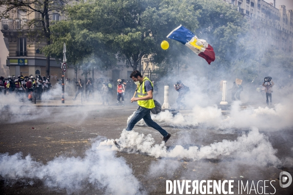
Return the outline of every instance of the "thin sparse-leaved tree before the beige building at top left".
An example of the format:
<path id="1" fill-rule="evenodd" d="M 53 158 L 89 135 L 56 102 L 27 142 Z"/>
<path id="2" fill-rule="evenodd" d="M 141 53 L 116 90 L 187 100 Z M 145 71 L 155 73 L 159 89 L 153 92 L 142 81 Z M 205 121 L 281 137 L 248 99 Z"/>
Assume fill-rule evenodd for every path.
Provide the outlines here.
<path id="1" fill-rule="evenodd" d="M 51 44 L 50 40 L 50 22 L 51 16 L 58 13 L 63 15 L 64 5 L 69 0 L 1 0 L 0 7 L 3 8 L 0 11 L 0 19 L 10 18 L 11 13 L 15 13 L 17 10 L 22 10 L 26 15 L 35 16 L 33 20 L 28 22 L 28 32 L 33 38 L 38 37 L 46 42 L 46 45 Z M 50 75 L 50 53 L 46 55 L 46 76 Z"/>

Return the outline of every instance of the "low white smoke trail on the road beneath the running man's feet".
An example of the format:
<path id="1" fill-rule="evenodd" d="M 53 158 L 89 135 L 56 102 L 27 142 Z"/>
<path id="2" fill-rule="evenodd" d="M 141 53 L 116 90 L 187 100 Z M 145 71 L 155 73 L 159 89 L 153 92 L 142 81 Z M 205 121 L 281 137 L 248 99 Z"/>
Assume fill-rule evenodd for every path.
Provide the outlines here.
<path id="1" fill-rule="evenodd" d="M 151 135 L 139 134 L 134 131 L 123 130 L 121 137 L 116 139 L 120 148 L 114 145 L 114 139 L 108 139 L 100 143 L 99 148 L 112 146 L 112 150 L 118 150 L 126 153 L 142 153 L 149 156 L 170 157 L 170 158 L 188 158 L 200 160 L 204 158 L 219 158 L 221 156 L 230 156 L 247 164 L 257 164 L 266 166 L 267 164 L 278 165 L 281 161 L 275 156 L 276 150 L 264 134 L 260 134 L 257 128 L 251 128 L 246 135 L 237 137 L 236 140 L 222 140 L 214 142 L 207 146 L 189 146 L 184 148 L 176 145 L 173 149 L 167 150 L 165 143 L 155 144 Z"/>

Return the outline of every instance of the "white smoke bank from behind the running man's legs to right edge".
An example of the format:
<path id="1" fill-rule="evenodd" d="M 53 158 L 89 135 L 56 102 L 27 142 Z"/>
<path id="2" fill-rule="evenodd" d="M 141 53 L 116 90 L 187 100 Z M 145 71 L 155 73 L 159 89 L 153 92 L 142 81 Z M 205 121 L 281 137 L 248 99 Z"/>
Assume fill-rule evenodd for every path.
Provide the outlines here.
<path id="1" fill-rule="evenodd" d="M 130 120 L 128 117 L 127 123 Z M 250 128 L 257 127 L 264 131 L 275 131 L 293 126 L 293 102 L 285 101 L 269 107 L 247 107 L 242 109 L 241 102 L 235 101 L 231 105 L 230 114 L 222 115 L 222 110 L 216 105 L 208 107 L 194 106 L 191 113 L 183 116 L 181 113 L 173 116 L 170 112 L 161 112 L 151 115 L 151 118 L 163 124 L 177 127 L 188 127 L 203 125 L 215 129 Z M 140 120 L 137 125 L 146 123 Z"/>

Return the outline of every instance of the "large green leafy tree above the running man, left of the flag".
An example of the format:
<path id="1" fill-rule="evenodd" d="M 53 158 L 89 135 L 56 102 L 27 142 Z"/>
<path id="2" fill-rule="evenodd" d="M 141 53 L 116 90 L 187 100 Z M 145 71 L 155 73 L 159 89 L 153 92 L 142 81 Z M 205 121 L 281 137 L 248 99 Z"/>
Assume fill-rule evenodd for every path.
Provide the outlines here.
<path id="1" fill-rule="evenodd" d="M 56 26 L 59 27 L 51 28 L 59 37 L 53 38 L 59 42 L 56 44 L 74 40 L 73 47 L 77 46 L 76 41 L 86 45 L 85 56 L 93 54 L 100 58 L 100 52 L 94 51 L 90 41 L 95 39 L 99 47 L 115 52 L 118 59 L 126 61 L 126 65 L 133 70 L 139 68 L 143 57 L 151 56 L 156 62 L 165 59 L 166 51 L 161 49 L 160 43 L 178 23 L 192 29 L 197 26 L 196 13 L 187 0 L 87 0 L 67 7 L 67 11 L 68 20 L 58 22 Z M 65 26 L 65 30 L 61 25 Z M 87 39 L 82 36 L 84 34 Z M 50 47 L 47 52 L 53 54 L 54 48 Z M 84 58 L 83 52 L 76 52 L 75 55 L 76 58 Z"/>

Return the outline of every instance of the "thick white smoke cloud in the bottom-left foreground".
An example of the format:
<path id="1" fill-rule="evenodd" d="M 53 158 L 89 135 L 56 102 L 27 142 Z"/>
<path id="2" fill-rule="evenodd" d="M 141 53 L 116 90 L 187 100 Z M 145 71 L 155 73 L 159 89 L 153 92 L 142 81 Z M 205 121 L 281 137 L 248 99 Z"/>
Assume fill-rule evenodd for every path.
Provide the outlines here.
<path id="1" fill-rule="evenodd" d="M 107 147 L 106 150 L 97 149 L 99 143 L 93 143 L 84 158 L 60 156 L 47 164 L 37 162 L 31 156 L 23 158 L 21 153 L 1 154 L 0 176 L 10 185 L 17 181 L 32 185 L 35 179 L 41 179 L 49 188 L 65 189 L 68 194 L 79 192 L 87 184 L 105 194 L 145 194 L 125 159 L 116 157 L 116 152 Z"/>

